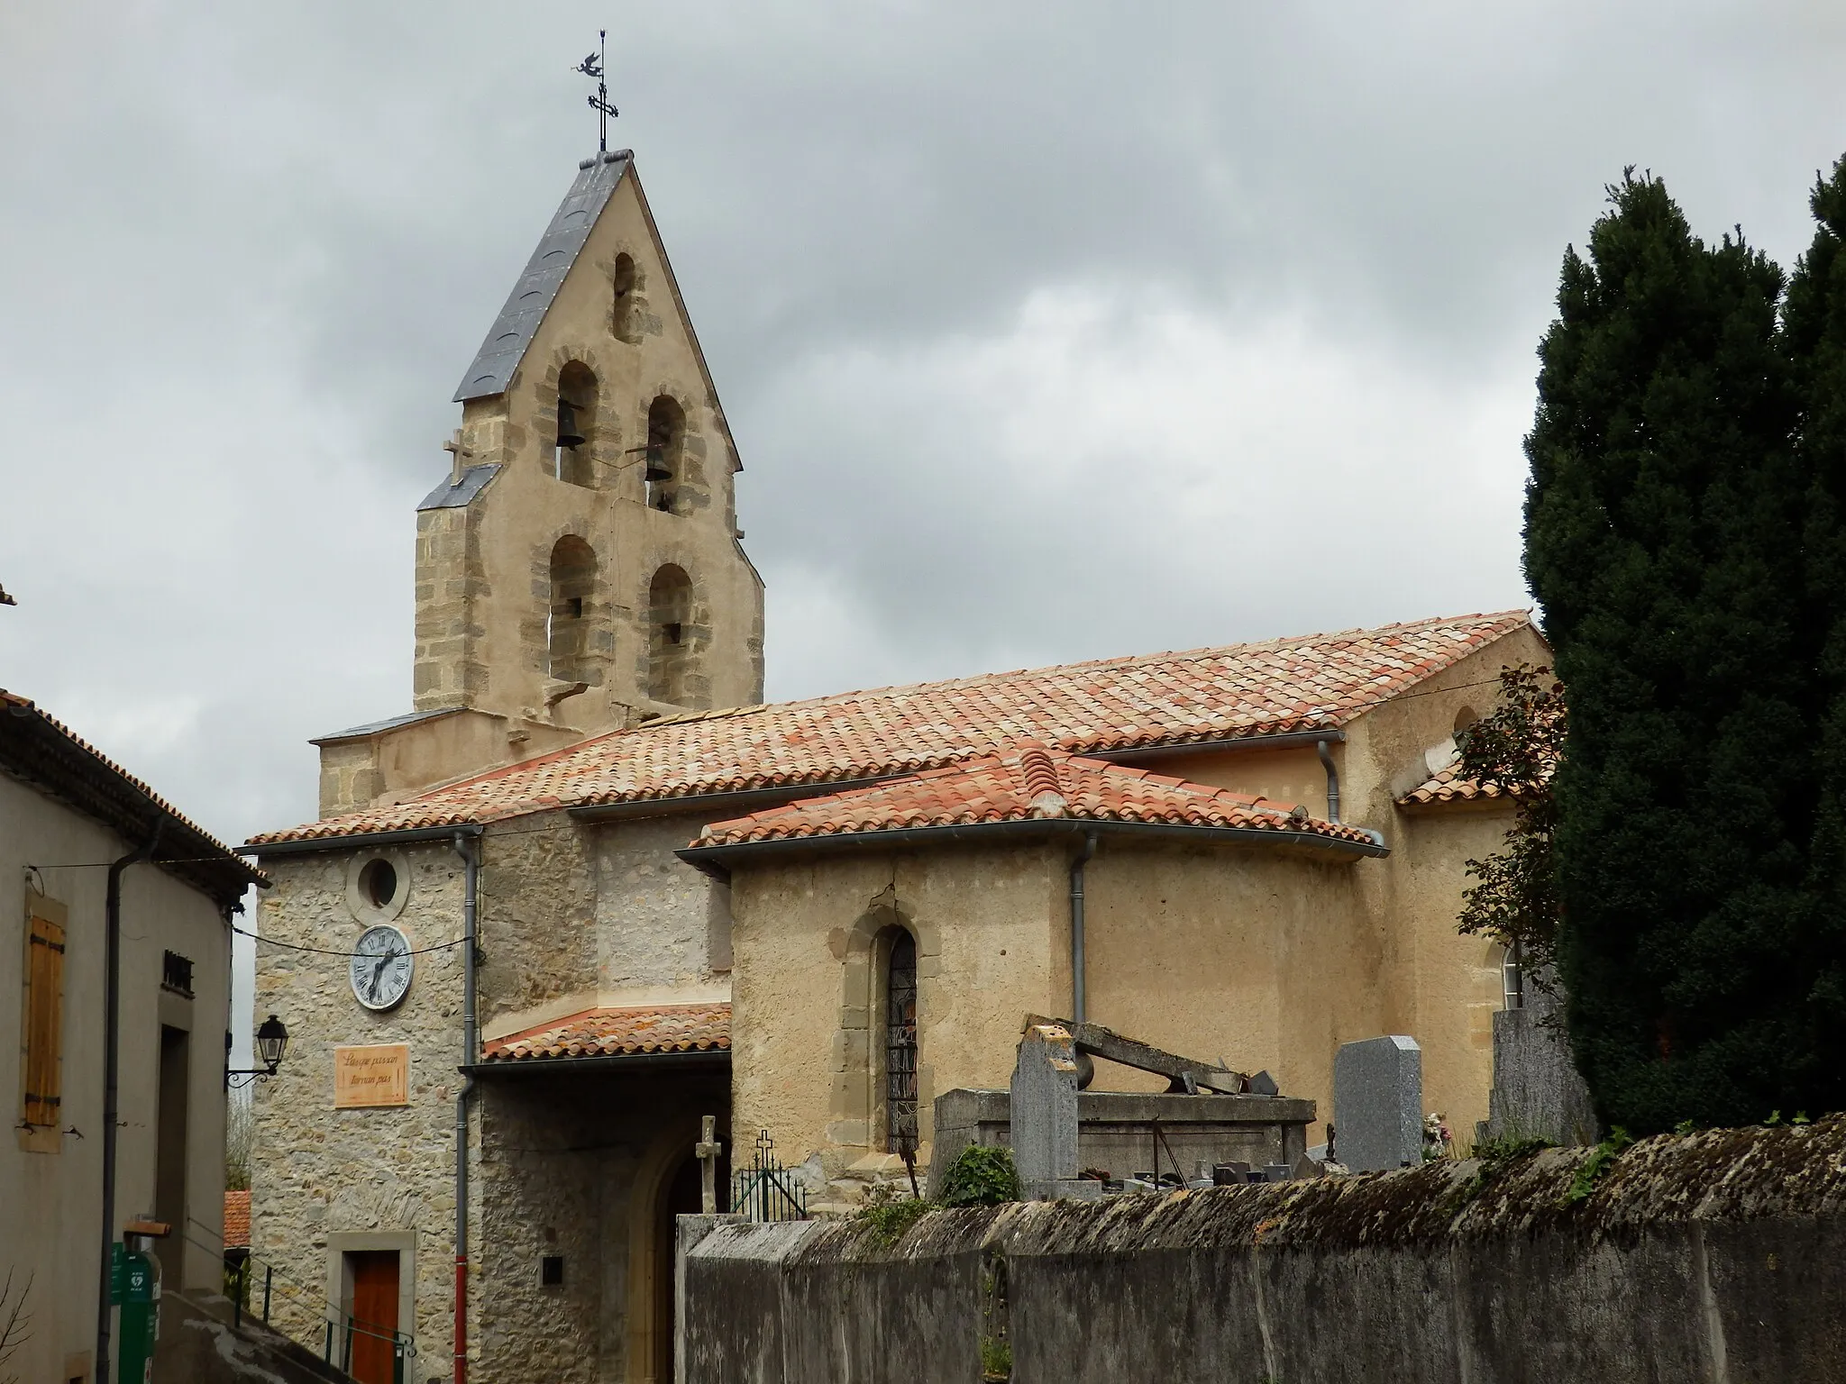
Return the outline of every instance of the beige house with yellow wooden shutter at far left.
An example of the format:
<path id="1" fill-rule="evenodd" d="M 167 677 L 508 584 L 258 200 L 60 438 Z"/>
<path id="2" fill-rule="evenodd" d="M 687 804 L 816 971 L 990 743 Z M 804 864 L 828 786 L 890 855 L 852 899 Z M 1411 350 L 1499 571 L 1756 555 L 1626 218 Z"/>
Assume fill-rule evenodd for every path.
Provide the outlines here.
<path id="1" fill-rule="evenodd" d="M 172 1227 L 159 1242 L 168 1290 L 222 1284 L 231 915 L 260 877 L 0 692 L 0 1032 L 18 1035 L 18 1061 L 0 1063 L 13 1126 L 0 1148 L 0 1283 L 26 1318 L 7 1366 L 20 1380 L 76 1384 L 94 1378 L 107 1244 L 127 1222 Z"/>

